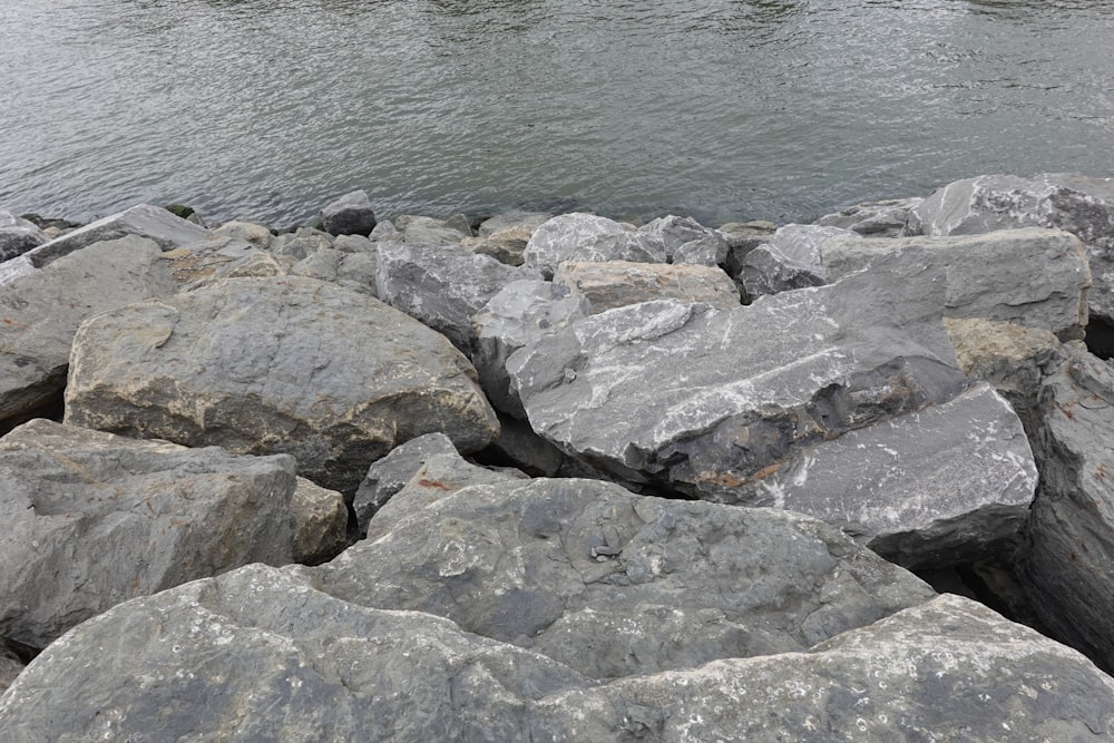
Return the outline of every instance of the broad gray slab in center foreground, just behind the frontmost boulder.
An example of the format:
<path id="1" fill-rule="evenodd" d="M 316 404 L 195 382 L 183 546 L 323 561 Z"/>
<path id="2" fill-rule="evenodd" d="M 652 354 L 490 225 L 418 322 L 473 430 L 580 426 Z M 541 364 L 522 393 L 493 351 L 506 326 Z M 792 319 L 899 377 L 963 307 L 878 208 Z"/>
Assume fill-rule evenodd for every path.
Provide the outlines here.
<path id="1" fill-rule="evenodd" d="M 577 479 L 428 495 L 399 491 L 368 540 L 306 570 L 313 585 L 444 616 L 596 678 L 802 651 L 934 595 L 785 511 Z"/>

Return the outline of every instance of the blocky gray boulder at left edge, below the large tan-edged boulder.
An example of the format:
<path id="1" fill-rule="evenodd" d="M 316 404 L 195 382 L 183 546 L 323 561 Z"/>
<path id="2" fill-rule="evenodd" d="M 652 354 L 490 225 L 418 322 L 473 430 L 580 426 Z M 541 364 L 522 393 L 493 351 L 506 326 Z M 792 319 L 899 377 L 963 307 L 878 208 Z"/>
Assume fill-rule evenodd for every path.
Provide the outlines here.
<path id="1" fill-rule="evenodd" d="M 31 647 L 123 600 L 291 560 L 292 457 L 35 420 L 0 439 L 0 636 Z"/>

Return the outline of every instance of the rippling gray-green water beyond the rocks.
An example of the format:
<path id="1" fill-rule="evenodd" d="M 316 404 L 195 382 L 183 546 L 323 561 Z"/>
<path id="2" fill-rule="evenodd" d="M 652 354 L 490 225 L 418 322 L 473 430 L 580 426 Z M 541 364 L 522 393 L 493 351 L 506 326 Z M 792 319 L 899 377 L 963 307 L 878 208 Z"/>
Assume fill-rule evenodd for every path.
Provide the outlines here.
<path id="1" fill-rule="evenodd" d="M 1111 176 L 1112 40 L 1104 0 L 3 0 L 0 207 L 789 222 Z"/>

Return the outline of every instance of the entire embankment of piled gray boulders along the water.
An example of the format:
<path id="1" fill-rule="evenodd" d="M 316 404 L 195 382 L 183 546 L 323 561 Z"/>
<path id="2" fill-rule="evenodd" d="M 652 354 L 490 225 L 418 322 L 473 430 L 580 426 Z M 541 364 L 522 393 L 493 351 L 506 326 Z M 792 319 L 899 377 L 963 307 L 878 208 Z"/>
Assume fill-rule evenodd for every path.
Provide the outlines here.
<path id="1" fill-rule="evenodd" d="M 321 217 L 0 213 L 0 740 L 1114 736 L 1114 182 Z"/>

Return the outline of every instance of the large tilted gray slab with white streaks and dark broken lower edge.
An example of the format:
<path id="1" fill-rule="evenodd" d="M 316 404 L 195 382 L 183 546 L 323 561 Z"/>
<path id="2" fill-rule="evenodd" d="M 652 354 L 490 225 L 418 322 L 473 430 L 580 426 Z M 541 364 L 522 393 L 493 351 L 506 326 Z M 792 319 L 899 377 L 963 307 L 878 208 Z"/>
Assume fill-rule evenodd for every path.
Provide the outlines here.
<path id="1" fill-rule="evenodd" d="M 673 300 L 573 323 L 507 362 L 535 431 L 633 482 L 727 497 L 795 447 L 944 402 L 966 379 L 942 271 L 866 272 L 730 312 Z"/>

